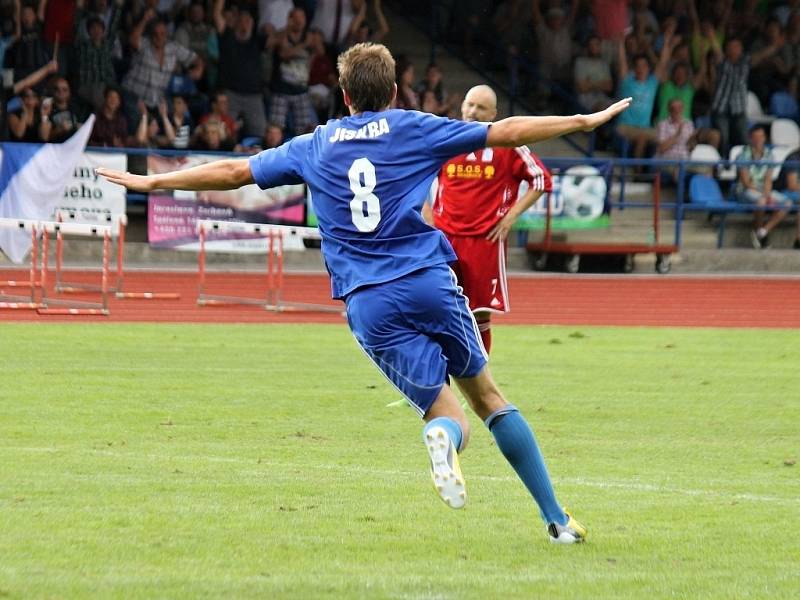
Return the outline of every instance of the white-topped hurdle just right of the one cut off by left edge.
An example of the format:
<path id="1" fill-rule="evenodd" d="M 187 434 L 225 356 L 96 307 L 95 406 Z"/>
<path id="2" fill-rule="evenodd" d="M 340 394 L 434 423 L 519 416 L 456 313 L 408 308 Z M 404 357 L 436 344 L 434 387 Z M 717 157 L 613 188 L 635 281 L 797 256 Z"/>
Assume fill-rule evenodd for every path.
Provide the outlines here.
<path id="1" fill-rule="evenodd" d="M 40 315 L 108 315 L 108 295 L 109 289 L 109 257 L 111 255 L 111 237 L 113 235 L 113 227 L 111 225 L 94 225 L 87 223 L 64 223 L 60 221 L 40 221 L 38 230 L 42 233 L 42 262 L 39 271 L 39 281 L 41 283 L 41 300 L 42 307 L 37 308 Z M 56 236 L 56 254 L 59 254 L 59 249 L 63 245 L 63 235 L 78 235 L 84 237 L 101 237 L 103 238 L 103 262 L 100 275 L 100 286 L 98 289 L 84 289 L 82 292 L 96 291 L 100 293 L 99 302 L 83 302 L 83 301 L 68 301 L 60 298 L 50 298 L 47 296 L 47 277 L 49 272 L 49 244 L 50 234 Z M 61 245 L 59 244 L 61 239 Z M 58 256 L 57 256 L 58 262 Z M 59 267 L 60 268 L 60 267 Z M 58 284 L 54 287 L 54 291 L 59 293 Z M 50 305 L 56 305 L 52 308 Z"/>

